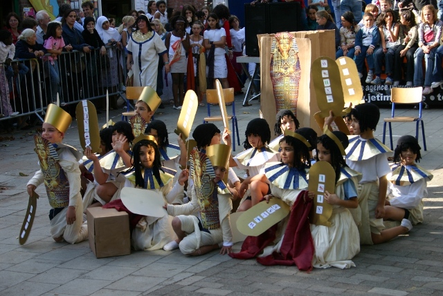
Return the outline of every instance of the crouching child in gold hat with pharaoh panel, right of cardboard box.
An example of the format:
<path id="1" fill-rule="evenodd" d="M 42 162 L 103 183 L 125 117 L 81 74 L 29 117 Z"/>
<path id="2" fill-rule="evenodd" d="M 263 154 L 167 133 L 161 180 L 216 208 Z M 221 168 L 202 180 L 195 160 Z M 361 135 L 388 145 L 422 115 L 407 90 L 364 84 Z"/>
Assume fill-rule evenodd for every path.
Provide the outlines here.
<path id="1" fill-rule="evenodd" d="M 229 213 L 232 209 L 230 192 L 223 179 L 228 167 L 230 146 L 215 144 L 206 154 L 195 148 L 191 153 L 192 200 L 187 204 L 168 204 L 168 214 L 176 216 L 172 228 L 176 241 L 165 250 L 180 248 L 183 254 L 199 256 L 221 247 L 220 254 L 231 252 L 233 236 Z M 198 184 L 198 185 L 197 185 Z M 197 211 L 197 216 L 193 216 Z"/>

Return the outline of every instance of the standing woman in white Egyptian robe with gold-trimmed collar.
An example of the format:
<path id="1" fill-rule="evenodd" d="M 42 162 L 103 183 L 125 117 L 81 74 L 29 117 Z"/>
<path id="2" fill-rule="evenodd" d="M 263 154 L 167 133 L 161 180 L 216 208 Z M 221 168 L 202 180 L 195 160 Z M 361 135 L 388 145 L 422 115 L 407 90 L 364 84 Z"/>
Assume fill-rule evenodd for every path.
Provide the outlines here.
<path id="1" fill-rule="evenodd" d="M 128 70 L 134 71 L 134 87 L 157 87 L 157 68 L 159 55 L 165 63 L 165 72 L 168 73 L 169 57 L 166 46 L 161 37 L 152 30 L 146 15 L 136 19 L 136 31 L 132 33 L 126 49 Z"/>

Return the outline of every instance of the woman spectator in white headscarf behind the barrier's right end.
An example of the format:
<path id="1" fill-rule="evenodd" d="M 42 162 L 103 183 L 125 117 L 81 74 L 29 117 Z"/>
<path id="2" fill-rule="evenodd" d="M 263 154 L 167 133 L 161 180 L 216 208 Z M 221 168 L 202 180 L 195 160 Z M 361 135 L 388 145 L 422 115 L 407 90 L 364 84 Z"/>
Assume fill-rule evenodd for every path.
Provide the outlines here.
<path id="1" fill-rule="evenodd" d="M 115 87 L 118 85 L 118 56 L 117 48 L 120 46 L 121 35 L 115 28 L 111 28 L 107 17 L 99 17 L 96 22 L 96 31 L 106 46 L 109 56 L 109 68 L 102 69 L 102 87 Z"/>

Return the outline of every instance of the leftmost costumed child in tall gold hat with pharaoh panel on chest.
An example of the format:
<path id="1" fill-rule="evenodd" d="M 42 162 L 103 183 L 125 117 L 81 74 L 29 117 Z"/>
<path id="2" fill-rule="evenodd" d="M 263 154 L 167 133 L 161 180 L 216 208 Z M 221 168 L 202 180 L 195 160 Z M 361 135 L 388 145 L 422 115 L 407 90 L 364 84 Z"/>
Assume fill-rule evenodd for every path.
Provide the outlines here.
<path id="1" fill-rule="evenodd" d="M 33 196 L 37 186 L 44 183 L 48 193 L 51 235 L 54 241 L 80 243 L 88 236 L 83 223 L 82 195 L 80 195 L 81 153 L 62 143 L 64 133 L 72 122 L 71 115 L 57 105 L 48 105 L 42 126 L 42 135 L 36 135 L 35 152 L 40 170 L 27 184 L 28 194 Z"/>

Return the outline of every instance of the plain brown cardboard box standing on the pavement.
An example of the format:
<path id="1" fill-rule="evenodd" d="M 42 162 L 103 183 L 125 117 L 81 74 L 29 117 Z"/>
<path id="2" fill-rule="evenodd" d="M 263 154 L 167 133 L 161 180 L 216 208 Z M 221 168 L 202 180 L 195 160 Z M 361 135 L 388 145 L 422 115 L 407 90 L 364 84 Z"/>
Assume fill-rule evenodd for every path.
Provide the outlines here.
<path id="1" fill-rule="evenodd" d="M 87 209 L 89 246 L 97 258 L 131 254 L 129 216 L 124 211 Z"/>

